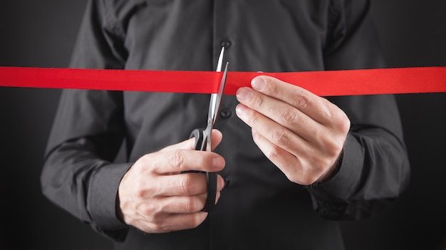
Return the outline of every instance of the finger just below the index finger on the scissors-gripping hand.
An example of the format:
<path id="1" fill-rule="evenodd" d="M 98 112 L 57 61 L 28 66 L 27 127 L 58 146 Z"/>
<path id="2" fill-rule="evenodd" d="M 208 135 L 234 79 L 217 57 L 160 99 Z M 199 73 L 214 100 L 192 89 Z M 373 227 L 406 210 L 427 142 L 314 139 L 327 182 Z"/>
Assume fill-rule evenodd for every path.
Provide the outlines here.
<path id="1" fill-rule="evenodd" d="M 166 175 L 157 177 L 152 185 L 157 189 L 157 196 L 193 196 L 207 194 L 207 177 L 204 173 L 185 173 L 182 175 Z M 224 179 L 217 175 L 217 192 L 224 187 Z"/>

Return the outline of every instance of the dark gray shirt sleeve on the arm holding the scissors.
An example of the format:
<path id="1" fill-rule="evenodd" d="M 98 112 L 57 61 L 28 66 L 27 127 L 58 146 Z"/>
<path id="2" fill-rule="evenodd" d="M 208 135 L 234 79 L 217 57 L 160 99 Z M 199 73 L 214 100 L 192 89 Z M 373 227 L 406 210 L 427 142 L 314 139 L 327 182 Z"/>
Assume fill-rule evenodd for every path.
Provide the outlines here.
<path id="1" fill-rule="evenodd" d="M 123 68 L 123 34 L 106 2 L 88 1 L 72 68 Z M 120 179 L 132 165 L 113 163 L 125 135 L 123 120 L 122 93 L 63 90 L 41 173 L 48 199 L 115 240 L 128 230 L 115 213 Z"/>

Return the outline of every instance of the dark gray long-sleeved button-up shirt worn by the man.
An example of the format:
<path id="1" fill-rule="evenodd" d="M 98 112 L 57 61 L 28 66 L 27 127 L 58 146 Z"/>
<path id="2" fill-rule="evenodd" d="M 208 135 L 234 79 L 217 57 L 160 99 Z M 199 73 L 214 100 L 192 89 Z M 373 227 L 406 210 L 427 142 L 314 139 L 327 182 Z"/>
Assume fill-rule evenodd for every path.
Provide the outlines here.
<path id="1" fill-rule="evenodd" d="M 71 66 L 212 71 L 226 46 L 231 71 L 380 68 L 369 4 L 93 0 Z M 142 234 L 115 216 L 120 179 L 142 155 L 204 127 L 209 95 L 64 90 L 43 192 L 115 239 L 117 249 L 343 249 L 335 220 L 362 219 L 387 207 L 408 184 L 409 165 L 393 96 L 328 99 L 351 119 L 333 179 L 313 187 L 286 179 L 234 115 L 237 100 L 224 96 L 216 124 L 224 137 L 216 152 L 227 162 L 220 172 L 227 186 L 214 211 L 197 229 Z M 123 141 L 128 163 L 113 163 Z"/>

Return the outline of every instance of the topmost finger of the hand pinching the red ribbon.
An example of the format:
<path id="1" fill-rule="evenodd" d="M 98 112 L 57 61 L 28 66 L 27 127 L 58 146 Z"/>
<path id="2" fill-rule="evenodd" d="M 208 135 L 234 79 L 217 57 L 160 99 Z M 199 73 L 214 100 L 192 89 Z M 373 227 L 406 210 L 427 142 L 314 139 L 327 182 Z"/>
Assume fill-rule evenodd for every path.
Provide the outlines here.
<path id="1" fill-rule="evenodd" d="M 330 123 L 333 113 L 337 112 L 325 98 L 277 78 L 260 75 L 251 80 L 251 86 L 265 95 L 289 103 L 319 123 Z"/>

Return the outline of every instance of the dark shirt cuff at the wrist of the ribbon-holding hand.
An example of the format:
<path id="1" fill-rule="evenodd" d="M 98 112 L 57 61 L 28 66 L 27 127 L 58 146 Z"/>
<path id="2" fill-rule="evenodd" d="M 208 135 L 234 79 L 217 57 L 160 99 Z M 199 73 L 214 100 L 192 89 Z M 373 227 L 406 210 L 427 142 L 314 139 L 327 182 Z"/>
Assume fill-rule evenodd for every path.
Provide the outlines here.
<path id="1" fill-rule="evenodd" d="M 364 150 L 353 135 L 348 134 L 343 148 L 341 167 L 336 175 L 321 184 L 308 188 L 314 199 L 340 202 L 349 199 L 361 179 Z"/>

